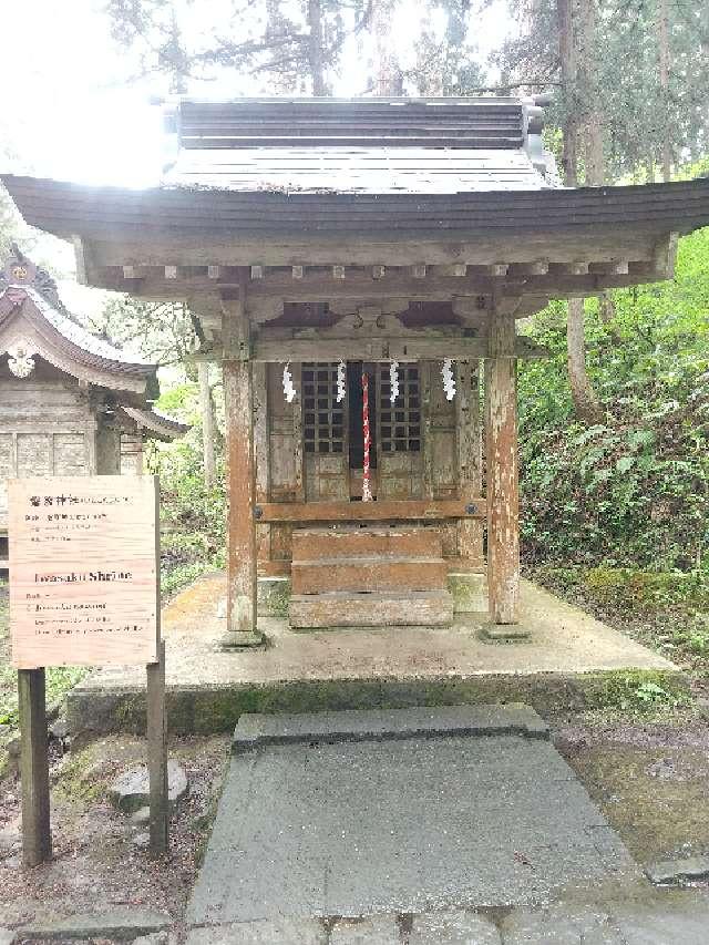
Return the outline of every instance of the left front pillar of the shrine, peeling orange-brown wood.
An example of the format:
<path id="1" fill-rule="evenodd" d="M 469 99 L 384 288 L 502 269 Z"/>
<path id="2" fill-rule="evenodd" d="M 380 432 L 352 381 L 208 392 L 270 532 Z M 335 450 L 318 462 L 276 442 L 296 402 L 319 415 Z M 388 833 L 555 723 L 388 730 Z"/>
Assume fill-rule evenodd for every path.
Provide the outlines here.
<path id="1" fill-rule="evenodd" d="M 245 287 L 224 302 L 224 398 L 227 450 L 227 646 L 248 646 L 256 635 L 256 469 L 254 379 Z"/>

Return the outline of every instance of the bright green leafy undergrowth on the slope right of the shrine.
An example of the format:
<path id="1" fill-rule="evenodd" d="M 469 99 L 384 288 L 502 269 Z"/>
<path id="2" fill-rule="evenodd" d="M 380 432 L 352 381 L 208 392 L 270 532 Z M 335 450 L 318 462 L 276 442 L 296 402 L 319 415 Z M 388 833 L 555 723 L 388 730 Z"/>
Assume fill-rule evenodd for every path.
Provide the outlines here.
<path id="1" fill-rule="evenodd" d="M 709 229 L 680 242 L 675 280 L 586 306 L 587 360 L 606 412 L 583 427 L 566 373 L 565 306 L 530 333 L 551 360 L 520 369 L 527 557 L 657 571 L 708 568 Z"/>

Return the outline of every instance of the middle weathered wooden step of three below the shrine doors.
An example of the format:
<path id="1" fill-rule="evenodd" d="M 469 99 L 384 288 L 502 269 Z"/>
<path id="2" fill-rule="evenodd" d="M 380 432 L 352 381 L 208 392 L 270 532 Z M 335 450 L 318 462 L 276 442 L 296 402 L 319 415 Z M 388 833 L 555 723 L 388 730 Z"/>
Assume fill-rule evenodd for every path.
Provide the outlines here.
<path id="1" fill-rule="evenodd" d="M 448 567 L 433 557 L 353 557 L 337 561 L 294 561 L 294 594 L 325 590 L 442 590 Z"/>

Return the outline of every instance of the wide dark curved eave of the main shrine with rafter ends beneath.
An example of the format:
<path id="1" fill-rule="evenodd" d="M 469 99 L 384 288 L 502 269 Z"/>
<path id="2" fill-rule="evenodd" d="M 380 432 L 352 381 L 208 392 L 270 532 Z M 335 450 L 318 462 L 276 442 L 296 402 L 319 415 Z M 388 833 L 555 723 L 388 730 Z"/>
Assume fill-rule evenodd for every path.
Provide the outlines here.
<path id="1" fill-rule="evenodd" d="M 667 278 L 676 236 L 709 224 L 707 179 L 429 195 L 2 179 L 29 224 L 74 242 L 84 281 L 145 298 L 245 280 L 291 301 L 590 295 Z"/>

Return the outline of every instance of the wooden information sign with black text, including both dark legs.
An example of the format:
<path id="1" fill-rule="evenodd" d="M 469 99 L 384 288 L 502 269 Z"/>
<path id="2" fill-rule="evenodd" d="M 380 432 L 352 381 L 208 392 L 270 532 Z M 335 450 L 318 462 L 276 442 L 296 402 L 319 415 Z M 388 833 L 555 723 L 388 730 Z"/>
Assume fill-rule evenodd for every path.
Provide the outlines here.
<path id="1" fill-rule="evenodd" d="M 44 667 L 147 666 L 151 852 L 167 849 L 155 476 L 10 480 L 10 629 L 20 700 L 23 861 L 51 856 Z"/>

